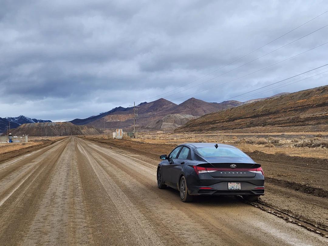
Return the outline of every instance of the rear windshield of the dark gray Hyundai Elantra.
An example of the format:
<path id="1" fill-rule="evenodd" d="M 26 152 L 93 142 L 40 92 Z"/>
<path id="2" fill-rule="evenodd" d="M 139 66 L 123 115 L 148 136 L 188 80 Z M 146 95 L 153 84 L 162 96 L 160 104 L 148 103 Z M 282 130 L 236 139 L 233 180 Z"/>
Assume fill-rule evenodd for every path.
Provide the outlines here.
<path id="1" fill-rule="evenodd" d="M 203 157 L 248 157 L 242 151 L 235 148 L 226 148 L 226 147 L 200 147 L 195 149 L 196 153 L 200 154 Z"/>

